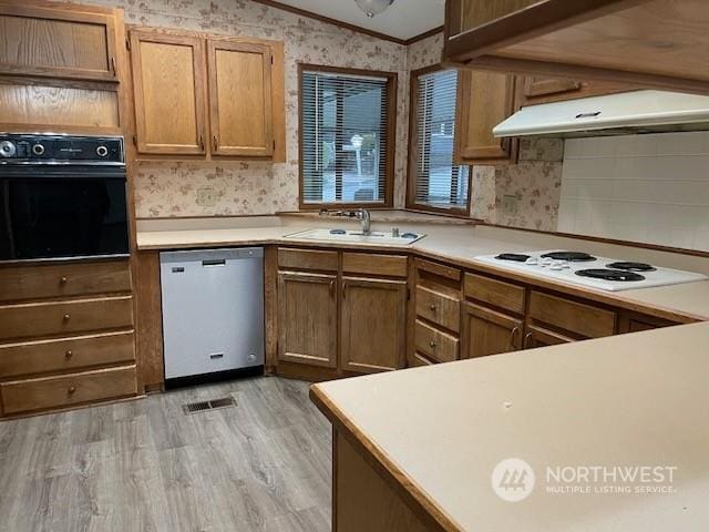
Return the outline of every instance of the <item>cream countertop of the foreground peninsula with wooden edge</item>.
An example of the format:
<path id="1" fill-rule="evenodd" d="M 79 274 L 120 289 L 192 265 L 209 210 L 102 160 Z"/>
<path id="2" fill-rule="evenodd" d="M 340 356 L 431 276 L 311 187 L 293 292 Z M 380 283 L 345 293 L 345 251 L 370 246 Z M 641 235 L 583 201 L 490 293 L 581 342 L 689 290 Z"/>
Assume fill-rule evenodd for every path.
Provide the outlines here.
<path id="1" fill-rule="evenodd" d="M 705 323 L 329 381 L 312 392 L 459 530 L 703 532 L 708 376 Z M 492 489 L 493 469 L 508 458 L 536 475 L 521 502 Z M 567 466 L 677 468 L 674 482 L 651 484 L 676 493 L 596 494 L 599 484 L 590 494 L 547 493 L 546 468 Z"/>

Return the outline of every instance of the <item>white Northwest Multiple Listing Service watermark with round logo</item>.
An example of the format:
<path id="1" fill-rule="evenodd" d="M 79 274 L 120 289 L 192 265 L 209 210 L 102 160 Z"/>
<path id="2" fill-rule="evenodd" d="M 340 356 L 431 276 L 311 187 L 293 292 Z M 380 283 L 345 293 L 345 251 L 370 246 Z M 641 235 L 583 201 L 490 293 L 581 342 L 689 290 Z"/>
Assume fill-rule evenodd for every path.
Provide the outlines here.
<path id="1" fill-rule="evenodd" d="M 542 474 L 540 474 L 542 473 Z M 533 492 L 551 495 L 650 495 L 676 493 L 675 466 L 566 464 L 536 471 L 520 458 L 502 460 L 492 471 L 493 491 L 507 502 Z"/>

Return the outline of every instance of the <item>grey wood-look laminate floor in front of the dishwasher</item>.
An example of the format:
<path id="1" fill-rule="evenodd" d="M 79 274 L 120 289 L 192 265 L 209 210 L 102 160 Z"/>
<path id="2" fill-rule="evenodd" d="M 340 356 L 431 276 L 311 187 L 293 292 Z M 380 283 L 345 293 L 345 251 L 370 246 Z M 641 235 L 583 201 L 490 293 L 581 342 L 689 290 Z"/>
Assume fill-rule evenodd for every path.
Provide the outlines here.
<path id="1" fill-rule="evenodd" d="M 276 377 L 4 421 L 0 530 L 328 531 L 330 453 L 308 385 Z"/>

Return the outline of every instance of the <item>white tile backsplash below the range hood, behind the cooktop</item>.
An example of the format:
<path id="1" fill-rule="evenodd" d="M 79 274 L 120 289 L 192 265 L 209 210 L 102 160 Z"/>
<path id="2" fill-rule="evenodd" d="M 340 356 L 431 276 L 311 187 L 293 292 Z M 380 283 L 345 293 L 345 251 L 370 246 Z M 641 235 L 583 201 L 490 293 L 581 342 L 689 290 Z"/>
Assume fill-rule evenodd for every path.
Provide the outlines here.
<path id="1" fill-rule="evenodd" d="M 709 132 L 567 140 L 558 231 L 709 252 Z"/>

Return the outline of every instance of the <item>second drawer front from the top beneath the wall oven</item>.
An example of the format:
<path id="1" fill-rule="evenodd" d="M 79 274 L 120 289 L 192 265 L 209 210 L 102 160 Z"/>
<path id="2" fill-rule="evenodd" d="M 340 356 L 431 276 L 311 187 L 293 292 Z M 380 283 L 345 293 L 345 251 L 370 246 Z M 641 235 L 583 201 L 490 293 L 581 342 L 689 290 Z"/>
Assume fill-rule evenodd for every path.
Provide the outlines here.
<path id="1" fill-rule="evenodd" d="M 0 307 L 0 340 L 105 330 L 133 325 L 133 298 L 32 303 Z"/>

